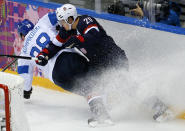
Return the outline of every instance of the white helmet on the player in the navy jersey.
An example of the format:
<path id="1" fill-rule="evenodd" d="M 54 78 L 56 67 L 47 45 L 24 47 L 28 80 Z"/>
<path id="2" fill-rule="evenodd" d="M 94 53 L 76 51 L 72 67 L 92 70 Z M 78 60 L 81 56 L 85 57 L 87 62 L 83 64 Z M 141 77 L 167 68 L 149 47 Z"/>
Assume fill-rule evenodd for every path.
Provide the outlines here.
<path id="1" fill-rule="evenodd" d="M 65 20 L 65 22 L 71 28 L 71 26 L 75 22 L 78 14 L 77 14 L 76 7 L 74 5 L 72 5 L 72 4 L 64 4 L 63 6 L 61 6 L 61 7 L 56 9 L 56 16 L 57 16 L 57 19 L 59 21 L 59 24 L 60 24 L 61 20 Z M 69 17 L 73 17 L 73 22 L 71 24 L 68 23 L 68 18 Z"/>

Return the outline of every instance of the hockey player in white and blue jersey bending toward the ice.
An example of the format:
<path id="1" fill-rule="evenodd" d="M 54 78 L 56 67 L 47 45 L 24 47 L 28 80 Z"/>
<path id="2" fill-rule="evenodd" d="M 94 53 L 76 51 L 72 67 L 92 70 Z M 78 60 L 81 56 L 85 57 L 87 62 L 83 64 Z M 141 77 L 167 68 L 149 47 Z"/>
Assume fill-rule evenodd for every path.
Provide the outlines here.
<path id="1" fill-rule="evenodd" d="M 50 12 L 43 16 L 34 26 L 33 23 L 27 19 L 18 23 L 18 33 L 24 40 L 24 46 L 21 50 L 21 56 L 36 57 L 40 51 L 55 38 L 57 30 L 57 19 L 55 12 Z M 36 66 L 35 61 L 18 60 L 18 73 L 25 80 L 24 98 L 29 99 L 32 93 L 33 70 Z M 38 66 L 38 65 L 37 65 Z M 40 68 L 45 75 L 48 75 L 49 65 Z M 50 75 L 46 76 L 49 78 Z M 50 79 L 52 80 L 52 79 Z"/>

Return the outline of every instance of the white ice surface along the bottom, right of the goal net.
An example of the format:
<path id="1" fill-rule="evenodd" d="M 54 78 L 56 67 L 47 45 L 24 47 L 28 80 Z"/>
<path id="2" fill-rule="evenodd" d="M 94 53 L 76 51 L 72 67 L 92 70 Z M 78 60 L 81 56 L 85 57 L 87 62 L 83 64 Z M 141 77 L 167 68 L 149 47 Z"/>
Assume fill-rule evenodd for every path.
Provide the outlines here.
<path id="1" fill-rule="evenodd" d="M 32 99 L 25 101 L 32 131 L 183 131 L 184 120 L 154 122 L 148 113 L 122 111 L 115 115 L 115 125 L 90 128 L 90 112 L 86 101 L 77 95 L 63 94 L 44 88 L 34 88 Z"/>

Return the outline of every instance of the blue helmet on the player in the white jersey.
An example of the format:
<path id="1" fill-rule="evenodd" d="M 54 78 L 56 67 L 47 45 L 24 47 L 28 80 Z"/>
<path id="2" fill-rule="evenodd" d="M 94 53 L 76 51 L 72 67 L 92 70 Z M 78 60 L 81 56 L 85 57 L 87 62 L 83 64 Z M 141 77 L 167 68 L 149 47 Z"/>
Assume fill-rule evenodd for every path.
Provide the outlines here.
<path id="1" fill-rule="evenodd" d="M 18 23 L 17 30 L 20 36 L 26 36 L 30 30 L 34 28 L 34 24 L 28 20 L 24 19 Z"/>

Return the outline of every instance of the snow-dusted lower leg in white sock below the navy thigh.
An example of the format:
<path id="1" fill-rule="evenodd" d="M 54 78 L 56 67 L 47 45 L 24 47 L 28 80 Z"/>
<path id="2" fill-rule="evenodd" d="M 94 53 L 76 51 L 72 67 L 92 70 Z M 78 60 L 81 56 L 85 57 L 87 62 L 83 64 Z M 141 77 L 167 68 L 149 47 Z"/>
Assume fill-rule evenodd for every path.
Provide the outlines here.
<path id="1" fill-rule="evenodd" d="M 104 103 L 104 89 L 98 85 L 101 72 L 94 68 L 89 69 L 84 77 L 76 81 L 78 86 L 74 90 L 75 93 L 84 96 L 87 100 L 92 115 L 88 119 L 91 127 L 113 125 Z"/>

